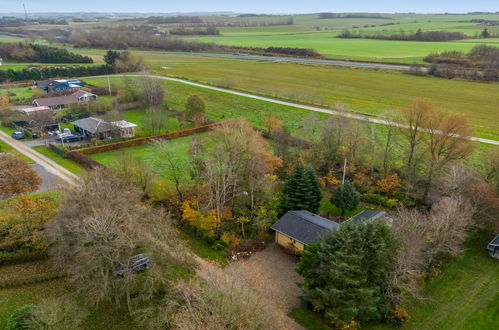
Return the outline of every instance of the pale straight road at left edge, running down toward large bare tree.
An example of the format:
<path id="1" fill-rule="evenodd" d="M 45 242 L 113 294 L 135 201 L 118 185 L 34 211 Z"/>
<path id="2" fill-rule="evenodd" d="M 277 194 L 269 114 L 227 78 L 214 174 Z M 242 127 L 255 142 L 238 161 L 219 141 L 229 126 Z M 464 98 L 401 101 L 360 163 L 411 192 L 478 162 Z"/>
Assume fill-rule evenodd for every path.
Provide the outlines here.
<path id="1" fill-rule="evenodd" d="M 0 140 L 7 143 L 11 147 L 22 153 L 23 155 L 31 158 L 35 163 L 39 164 L 47 172 L 55 175 L 57 178 L 63 180 L 64 182 L 67 182 L 69 184 L 74 184 L 75 181 L 78 179 L 78 176 L 66 170 L 64 167 L 57 164 L 50 158 L 31 149 L 30 147 L 26 146 L 24 143 L 14 140 L 8 134 L 2 131 L 0 131 Z"/>

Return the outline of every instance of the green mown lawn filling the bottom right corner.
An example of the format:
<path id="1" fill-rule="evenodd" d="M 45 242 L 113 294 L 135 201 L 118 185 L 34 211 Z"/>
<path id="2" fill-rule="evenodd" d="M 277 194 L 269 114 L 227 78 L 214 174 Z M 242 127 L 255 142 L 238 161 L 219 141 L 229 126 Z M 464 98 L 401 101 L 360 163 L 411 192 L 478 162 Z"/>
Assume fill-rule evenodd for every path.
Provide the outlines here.
<path id="1" fill-rule="evenodd" d="M 499 325 L 499 261 L 485 251 L 495 234 L 478 232 L 412 302 L 408 329 L 496 329 Z"/>

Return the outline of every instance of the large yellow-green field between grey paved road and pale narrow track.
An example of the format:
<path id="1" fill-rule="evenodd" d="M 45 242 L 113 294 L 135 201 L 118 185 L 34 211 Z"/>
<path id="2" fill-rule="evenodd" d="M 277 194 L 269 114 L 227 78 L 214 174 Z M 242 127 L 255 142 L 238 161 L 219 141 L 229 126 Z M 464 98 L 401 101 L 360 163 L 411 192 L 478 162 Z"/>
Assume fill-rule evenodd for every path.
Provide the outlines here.
<path id="1" fill-rule="evenodd" d="M 497 83 L 202 56 L 148 54 L 146 58 L 165 75 L 326 107 L 342 102 L 375 117 L 382 117 L 386 110 L 402 109 L 415 99 L 426 99 L 443 111 L 465 115 L 476 136 L 499 138 Z M 166 94 L 171 94 L 168 89 Z"/>

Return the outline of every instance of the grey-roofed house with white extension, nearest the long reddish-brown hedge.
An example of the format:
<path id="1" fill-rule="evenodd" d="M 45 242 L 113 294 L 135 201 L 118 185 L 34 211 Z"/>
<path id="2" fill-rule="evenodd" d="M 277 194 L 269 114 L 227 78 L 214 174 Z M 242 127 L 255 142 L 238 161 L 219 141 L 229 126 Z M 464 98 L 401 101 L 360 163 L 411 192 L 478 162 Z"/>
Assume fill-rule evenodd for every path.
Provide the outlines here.
<path id="1" fill-rule="evenodd" d="M 125 120 L 108 123 L 103 119 L 95 117 L 80 119 L 72 124 L 74 125 L 75 132 L 87 137 L 97 137 L 102 140 L 133 137 L 135 136 L 137 129 L 137 125 Z"/>

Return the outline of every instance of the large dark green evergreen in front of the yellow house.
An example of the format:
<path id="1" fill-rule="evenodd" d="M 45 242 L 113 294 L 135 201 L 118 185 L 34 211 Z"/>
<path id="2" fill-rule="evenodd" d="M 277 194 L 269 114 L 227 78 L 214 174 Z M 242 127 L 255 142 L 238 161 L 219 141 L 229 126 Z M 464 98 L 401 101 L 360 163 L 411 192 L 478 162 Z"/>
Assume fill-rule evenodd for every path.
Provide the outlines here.
<path id="1" fill-rule="evenodd" d="M 398 239 L 384 221 L 343 224 L 302 253 L 303 298 L 333 324 L 379 321 L 389 309 Z"/>

